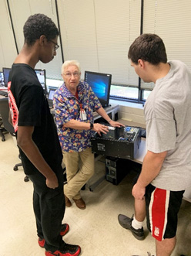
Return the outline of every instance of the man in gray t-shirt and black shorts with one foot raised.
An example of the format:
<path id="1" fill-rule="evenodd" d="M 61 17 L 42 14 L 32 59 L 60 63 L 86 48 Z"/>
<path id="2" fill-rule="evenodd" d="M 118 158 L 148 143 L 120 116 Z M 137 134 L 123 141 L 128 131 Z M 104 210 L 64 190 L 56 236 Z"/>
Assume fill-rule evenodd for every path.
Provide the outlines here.
<path id="1" fill-rule="evenodd" d="M 156 255 L 169 256 L 183 193 L 191 186 L 191 72 L 181 61 L 167 63 L 163 40 L 155 34 L 139 36 L 128 57 L 139 77 L 155 87 L 144 109 L 147 152 L 132 188 L 135 216 L 119 214 L 119 224 L 143 240 L 146 215 Z"/>

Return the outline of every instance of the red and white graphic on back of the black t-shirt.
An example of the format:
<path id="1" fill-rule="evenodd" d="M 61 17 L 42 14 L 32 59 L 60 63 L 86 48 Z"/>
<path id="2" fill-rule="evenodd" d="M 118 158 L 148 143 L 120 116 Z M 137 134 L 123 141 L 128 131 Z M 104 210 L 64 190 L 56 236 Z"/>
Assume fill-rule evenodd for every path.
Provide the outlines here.
<path id="1" fill-rule="evenodd" d="M 18 130 L 18 108 L 15 102 L 15 97 L 12 95 L 12 91 L 10 90 L 12 82 L 8 82 L 8 104 L 12 117 L 12 125 L 15 132 Z"/>

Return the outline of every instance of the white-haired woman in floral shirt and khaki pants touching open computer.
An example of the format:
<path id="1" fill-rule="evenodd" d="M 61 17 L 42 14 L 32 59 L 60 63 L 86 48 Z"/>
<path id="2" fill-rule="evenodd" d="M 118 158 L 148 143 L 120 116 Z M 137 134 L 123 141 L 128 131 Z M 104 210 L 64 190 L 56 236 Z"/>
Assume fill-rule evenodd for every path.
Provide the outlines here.
<path id="1" fill-rule="evenodd" d="M 64 84 L 55 91 L 53 103 L 67 176 L 65 205 L 71 207 L 72 199 L 77 207 L 85 209 L 80 189 L 94 173 L 94 155 L 90 145 L 92 131 L 99 135 L 109 131 L 106 125 L 93 123 L 93 111 L 114 127 L 122 124 L 109 118 L 89 84 L 80 81 L 80 75 L 77 61 L 63 63 Z"/>

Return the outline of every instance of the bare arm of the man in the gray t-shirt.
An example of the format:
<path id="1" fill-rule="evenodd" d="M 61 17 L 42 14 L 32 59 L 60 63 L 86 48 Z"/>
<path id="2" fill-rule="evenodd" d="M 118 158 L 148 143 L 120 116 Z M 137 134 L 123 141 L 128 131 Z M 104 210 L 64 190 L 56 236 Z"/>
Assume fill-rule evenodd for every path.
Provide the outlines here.
<path id="1" fill-rule="evenodd" d="M 137 180 L 136 185 L 132 188 L 132 196 L 137 200 L 144 199 L 146 186 L 159 174 L 164 159 L 166 158 L 166 154 L 166 151 L 161 153 L 147 151 L 142 163 L 142 171 L 139 179 Z"/>

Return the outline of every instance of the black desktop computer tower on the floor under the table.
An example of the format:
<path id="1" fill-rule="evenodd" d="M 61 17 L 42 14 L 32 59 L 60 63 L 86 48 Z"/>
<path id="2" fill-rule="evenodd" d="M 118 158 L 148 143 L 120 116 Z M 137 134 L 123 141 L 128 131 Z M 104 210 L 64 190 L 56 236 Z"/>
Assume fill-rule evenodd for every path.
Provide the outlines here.
<path id="1" fill-rule="evenodd" d="M 118 185 L 131 169 L 131 161 L 111 156 L 106 157 L 106 180 Z"/>

